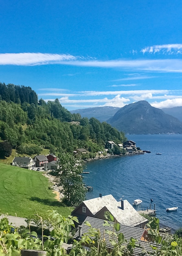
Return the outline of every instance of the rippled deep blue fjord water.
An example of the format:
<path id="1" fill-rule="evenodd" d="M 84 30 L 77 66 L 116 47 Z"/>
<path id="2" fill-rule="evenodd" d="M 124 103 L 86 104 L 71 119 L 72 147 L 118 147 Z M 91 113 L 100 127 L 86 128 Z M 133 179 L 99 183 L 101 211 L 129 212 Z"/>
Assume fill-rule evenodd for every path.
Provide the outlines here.
<path id="1" fill-rule="evenodd" d="M 121 156 L 89 162 L 84 182 L 93 186 L 87 199 L 112 194 L 117 201 L 127 199 L 131 204 L 141 199 L 137 210 L 156 204 L 162 225 L 182 227 L 182 135 L 126 135 L 136 146 L 151 153 Z M 162 153 L 162 155 L 156 155 Z M 166 208 L 178 206 L 175 212 Z"/>

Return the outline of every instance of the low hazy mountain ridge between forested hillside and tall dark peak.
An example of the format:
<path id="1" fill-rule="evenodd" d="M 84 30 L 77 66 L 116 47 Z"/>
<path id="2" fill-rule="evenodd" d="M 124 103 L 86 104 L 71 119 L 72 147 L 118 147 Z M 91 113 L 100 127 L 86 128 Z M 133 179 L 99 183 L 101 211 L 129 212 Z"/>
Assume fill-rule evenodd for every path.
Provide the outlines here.
<path id="1" fill-rule="evenodd" d="M 96 108 L 84 108 L 84 109 L 77 109 L 70 111 L 73 113 L 79 113 L 81 117 L 88 117 L 90 119 L 91 117 L 95 117 L 100 122 L 106 121 L 107 119 L 110 119 L 114 116 L 114 114 L 119 110 L 120 108 L 114 108 L 114 107 L 96 107 Z"/>

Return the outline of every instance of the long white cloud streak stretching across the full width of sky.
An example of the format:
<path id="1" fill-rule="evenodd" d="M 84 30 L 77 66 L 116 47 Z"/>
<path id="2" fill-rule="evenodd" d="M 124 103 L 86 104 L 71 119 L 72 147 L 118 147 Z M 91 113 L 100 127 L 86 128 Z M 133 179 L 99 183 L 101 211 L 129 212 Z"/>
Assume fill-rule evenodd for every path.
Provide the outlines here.
<path id="1" fill-rule="evenodd" d="M 0 65 L 72 65 L 80 67 L 121 68 L 122 70 L 145 70 L 156 72 L 182 72 L 182 59 L 155 60 L 110 60 L 97 61 L 82 56 L 49 53 L 6 53 L 0 54 Z M 147 78 L 147 77 L 146 77 Z M 134 79 L 137 79 L 135 77 Z M 138 79 L 142 79 L 138 77 Z M 144 78 L 143 78 L 144 79 Z M 131 79 L 129 79 L 131 80 Z"/>

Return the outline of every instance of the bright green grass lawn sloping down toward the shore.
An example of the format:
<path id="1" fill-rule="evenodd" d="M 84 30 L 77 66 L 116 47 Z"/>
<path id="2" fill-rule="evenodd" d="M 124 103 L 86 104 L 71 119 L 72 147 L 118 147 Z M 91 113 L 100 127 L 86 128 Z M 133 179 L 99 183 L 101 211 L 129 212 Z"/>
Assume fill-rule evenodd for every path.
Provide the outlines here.
<path id="1" fill-rule="evenodd" d="M 73 208 L 55 200 L 49 186 L 42 172 L 0 163 L 0 213 L 33 218 L 52 209 L 67 217 Z"/>

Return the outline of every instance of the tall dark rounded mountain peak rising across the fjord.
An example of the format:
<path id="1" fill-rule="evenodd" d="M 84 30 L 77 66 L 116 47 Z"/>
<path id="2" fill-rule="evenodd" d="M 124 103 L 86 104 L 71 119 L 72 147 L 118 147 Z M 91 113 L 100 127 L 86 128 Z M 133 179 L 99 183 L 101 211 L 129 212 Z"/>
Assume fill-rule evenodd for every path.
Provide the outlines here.
<path id="1" fill-rule="evenodd" d="M 152 107 L 147 101 L 138 101 L 120 108 L 107 122 L 126 134 L 182 134 L 182 122 Z"/>

